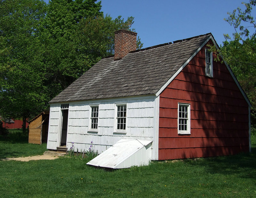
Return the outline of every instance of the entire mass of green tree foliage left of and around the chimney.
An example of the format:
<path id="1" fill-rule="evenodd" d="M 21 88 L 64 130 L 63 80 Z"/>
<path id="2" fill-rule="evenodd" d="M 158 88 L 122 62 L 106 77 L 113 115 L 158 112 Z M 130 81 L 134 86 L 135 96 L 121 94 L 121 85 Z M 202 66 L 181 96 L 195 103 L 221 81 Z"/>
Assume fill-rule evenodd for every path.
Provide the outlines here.
<path id="1" fill-rule="evenodd" d="M 0 0 L 0 115 L 33 118 L 102 57 L 114 32 L 133 17 L 112 19 L 95 0 Z M 132 31 L 134 31 L 132 29 Z M 141 48 L 140 39 L 137 47 Z"/>

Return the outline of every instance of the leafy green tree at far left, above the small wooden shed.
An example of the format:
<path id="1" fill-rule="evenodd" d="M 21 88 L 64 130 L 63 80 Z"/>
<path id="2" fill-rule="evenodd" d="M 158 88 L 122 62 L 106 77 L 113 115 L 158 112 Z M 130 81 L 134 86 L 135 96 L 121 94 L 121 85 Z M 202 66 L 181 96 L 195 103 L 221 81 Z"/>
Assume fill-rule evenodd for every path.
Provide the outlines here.
<path id="1" fill-rule="evenodd" d="M 46 88 L 39 26 L 46 4 L 40 0 L 1 0 L 0 115 L 28 117 L 45 107 Z"/>

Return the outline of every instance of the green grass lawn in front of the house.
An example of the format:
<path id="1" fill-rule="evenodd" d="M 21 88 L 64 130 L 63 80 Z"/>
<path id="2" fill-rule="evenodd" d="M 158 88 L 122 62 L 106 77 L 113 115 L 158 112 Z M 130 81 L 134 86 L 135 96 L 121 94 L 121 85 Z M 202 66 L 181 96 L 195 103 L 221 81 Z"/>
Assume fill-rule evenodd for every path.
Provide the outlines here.
<path id="1" fill-rule="evenodd" d="M 1 153 L 2 148 L 8 149 L 1 145 Z M 236 156 L 156 161 L 114 171 L 87 162 L 0 160 L 0 197 L 256 197 L 255 137 L 252 153 Z"/>

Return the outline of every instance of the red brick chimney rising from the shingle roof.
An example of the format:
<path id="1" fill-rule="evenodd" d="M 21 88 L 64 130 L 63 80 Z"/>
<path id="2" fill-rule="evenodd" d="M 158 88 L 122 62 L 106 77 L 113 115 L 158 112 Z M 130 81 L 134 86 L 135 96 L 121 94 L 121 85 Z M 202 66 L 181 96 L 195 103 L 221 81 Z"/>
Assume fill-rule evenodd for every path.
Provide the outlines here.
<path id="1" fill-rule="evenodd" d="M 115 32 L 115 60 L 124 58 L 130 51 L 136 50 L 137 33 L 118 30 Z"/>

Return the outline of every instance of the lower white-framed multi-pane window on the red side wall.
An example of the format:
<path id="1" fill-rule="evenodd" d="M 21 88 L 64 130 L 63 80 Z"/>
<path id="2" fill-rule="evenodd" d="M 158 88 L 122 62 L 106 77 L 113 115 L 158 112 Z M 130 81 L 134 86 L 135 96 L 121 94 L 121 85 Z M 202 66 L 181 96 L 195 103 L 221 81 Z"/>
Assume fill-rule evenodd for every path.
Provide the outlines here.
<path id="1" fill-rule="evenodd" d="M 179 104 L 178 133 L 190 134 L 190 105 L 189 104 Z"/>

